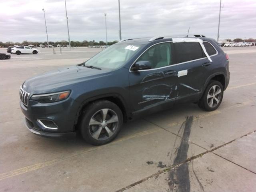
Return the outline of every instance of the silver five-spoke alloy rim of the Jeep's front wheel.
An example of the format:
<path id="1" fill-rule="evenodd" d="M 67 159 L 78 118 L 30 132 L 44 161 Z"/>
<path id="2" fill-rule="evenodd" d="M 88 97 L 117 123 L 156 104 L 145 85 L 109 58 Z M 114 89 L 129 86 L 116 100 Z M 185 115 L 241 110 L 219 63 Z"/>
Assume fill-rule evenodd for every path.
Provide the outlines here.
<path id="1" fill-rule="evenodd" d="M 96 140 L 106 140 L 110 138 L 118 127 L 118 116 L 111 109 L 101 109 L 97 111 L 89 122 L 89 131 Z"/>

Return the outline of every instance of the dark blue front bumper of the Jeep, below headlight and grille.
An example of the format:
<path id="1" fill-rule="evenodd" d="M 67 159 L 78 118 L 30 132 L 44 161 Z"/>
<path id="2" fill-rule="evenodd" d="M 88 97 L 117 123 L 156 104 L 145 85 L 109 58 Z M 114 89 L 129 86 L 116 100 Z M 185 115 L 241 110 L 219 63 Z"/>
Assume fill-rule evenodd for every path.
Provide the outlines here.
<path id="1" fill-rule="evenodd" d="M 74 108 L 71 108 L 70 106 L 74 106 Z M 24 106 L 20 100 L 20 108 L 26 118 L 24 124 L 34 134 L 43 136 L 58 137 L 69 133 L 75 133 L 75 107 L 76 102 L 71 98 L 48 104 L 29 100 L 28 106 Z M 50 120 L 57 125 L 57 128 L 44 126 L 39 120 Z"/>

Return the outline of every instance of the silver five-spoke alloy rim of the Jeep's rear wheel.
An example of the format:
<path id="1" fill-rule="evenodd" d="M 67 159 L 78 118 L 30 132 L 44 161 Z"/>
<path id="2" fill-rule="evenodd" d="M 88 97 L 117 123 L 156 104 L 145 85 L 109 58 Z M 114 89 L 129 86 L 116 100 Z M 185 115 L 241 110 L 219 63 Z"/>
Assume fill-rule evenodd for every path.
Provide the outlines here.
<path id="1" fill-rule="evenodd" d="M 207 94 L 207 104 L 210 107 L 215 107 L 220 103 L 222 91 L 220 86 L 214 85 L 210 88 Z"/>

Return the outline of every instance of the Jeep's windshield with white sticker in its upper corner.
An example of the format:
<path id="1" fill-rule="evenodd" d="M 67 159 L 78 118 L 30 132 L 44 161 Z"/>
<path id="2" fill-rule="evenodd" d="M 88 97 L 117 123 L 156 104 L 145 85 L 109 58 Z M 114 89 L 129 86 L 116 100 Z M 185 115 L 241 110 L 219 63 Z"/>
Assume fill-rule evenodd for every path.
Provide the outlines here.
<path id="1" fill-rule="evenodd" d="M 117 69 L 123 66 L 138 50 L 140 44 L 114 44 L 85 62 L 85 66 Z"/>

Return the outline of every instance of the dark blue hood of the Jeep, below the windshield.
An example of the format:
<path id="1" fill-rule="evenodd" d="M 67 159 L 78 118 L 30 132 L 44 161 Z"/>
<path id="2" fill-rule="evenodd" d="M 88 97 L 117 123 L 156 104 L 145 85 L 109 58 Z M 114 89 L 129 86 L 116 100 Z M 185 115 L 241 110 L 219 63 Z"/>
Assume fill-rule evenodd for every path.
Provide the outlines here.
<path id="1" fill-rule="evenodd" d="M 25 85 L 24 90 L 33 94 L 58 92 L 71 89 L 69 85 L 105 76 L 106 73 L 106 70 L 71 66 L 29 78 L 23 88 Z"/>

